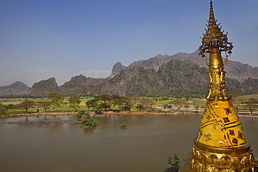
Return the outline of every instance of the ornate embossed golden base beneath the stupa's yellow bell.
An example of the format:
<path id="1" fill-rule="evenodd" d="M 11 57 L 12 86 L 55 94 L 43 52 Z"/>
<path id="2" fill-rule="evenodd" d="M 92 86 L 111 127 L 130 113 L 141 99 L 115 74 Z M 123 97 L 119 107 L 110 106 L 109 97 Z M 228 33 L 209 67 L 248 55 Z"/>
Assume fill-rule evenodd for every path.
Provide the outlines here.
<path id="1" fill-rule="evenodd" d="M 211 153 L 192 146 L 192 153 L 187 159 L 184 172 L 258 172 L 258 162 L 252 150 L 246 153 L 225 154 Z"/>

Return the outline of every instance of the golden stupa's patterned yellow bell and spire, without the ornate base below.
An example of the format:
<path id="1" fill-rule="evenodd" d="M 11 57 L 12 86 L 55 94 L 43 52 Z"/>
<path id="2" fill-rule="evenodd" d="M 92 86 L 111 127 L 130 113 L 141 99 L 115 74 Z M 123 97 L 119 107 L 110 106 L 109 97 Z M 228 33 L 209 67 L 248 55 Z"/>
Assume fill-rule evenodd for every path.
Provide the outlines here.
<path id="1" fill-rule="evenodd" d="M 224 63 L 221 52 L 231 54 L 233 48 L 231 42 L 227 42 L 227 34 L 220 31 L 221 26 L 214 17 L 213 3 L 210 3 L 208 29 L 202 38 L 200 53 L 209 54 L 208 76 L 210 89 L 206 96 L 208 100 L 204 111 L 204 117 L 199 127 L 198 143 L 204 144 L 205 148 L 234 149 L 247 146 L 241 121 L 236 116 L 231 96 L 227 94 L 225 87 Z M 198 145 L 199 146 L 199 145 Z"/>

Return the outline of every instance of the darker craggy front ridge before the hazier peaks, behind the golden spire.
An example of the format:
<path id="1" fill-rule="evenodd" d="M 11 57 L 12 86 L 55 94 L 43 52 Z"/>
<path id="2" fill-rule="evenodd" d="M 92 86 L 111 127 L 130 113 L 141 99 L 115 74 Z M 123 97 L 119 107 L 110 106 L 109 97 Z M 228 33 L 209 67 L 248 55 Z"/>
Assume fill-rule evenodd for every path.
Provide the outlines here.
<path id="1" fill-rule="evenodd" d="M 158 72 L 154 68 L 144 68 L 141 65 L 129 65 L 118 75 L 103 83 L 90 84 L 87 95 L 192 95 L 208 92 L 208 69 L 200 67 L 192 61 L 172 59 L 160 66 Z M 249 82 L 246 82 L 250 80 Z M 226 79 L 229 91 L 252 93 L 258 79 L 248 78 L 242 84 L 236 79 Z"/>

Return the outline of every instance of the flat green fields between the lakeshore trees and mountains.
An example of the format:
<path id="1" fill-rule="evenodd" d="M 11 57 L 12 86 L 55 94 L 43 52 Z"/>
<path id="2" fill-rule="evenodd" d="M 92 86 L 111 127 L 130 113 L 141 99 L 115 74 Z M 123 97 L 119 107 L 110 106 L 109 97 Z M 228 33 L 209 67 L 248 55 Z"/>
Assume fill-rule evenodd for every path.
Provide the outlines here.
<path id="1" fill-rule="evenodd" d="M 250 98 L 253 98 L 254 96 L 248 96 L 248 97 L 241 97 L 241 100 L 244 102 Z M 63 111 L 63 112 L 70 112 L 70 111 L 75 111 L 73 108 L 70 107 L 70 104 L 68 103 L 68 98 L 69 97 L 63 97 L 62 103 L 60 107 L 56 108 L 56 111 Z M 255 97 L 256 98 L 256 97 Z M 90 97 L 79 97 L 79 100 L 81 101 L 79 104 L 79 107 L 76 108 L 76 111 L 88 111 L 88 110 L 93 110 L 93 108 L 88 108 L 86 107 L 85 102 L 92 100 L 93 98 Z M 168 97 L 164 98 L 164 97 L 144 97 L 144 99 L 149 99 L 153 102 L 153 104 L 150 106 L 150 108 L 148 109 L 149 111 L 164 111 L 165 109 L 163 109 L 164 104 L 171 104 L 172 105 L 172 109 L 177 110 L 176 107 L 173 106 L 173 103 L 175 101 L 178 101 L 177 99 L 169 99 Z M 21 102 L 24 102 L 24 100 L 30 100 L 33 102 L 39 102 L 39 101 L 49 101 L 47 98 L 28 98 L 28 99 L 24 99 L 24 98 L 0 98 L 0 104 L 2 104 L 2 106 L 8 106 L 9 104 L 13 104 L 14 106 L 17 104 L 20 104 Z M 189 100 L 185 100 L 182 99 L 180 101 L 184 101 L 185 105 L 188 105 L 187 110 L 188 111 L 203 111 L 205 105 L 206 105 L 206 100 L 205 99 L 189 99 Z M 184 105 L 184 106 L 185 106 Z M 132 111 L 137 111 L 139 109 L 136 108 L 137 103 L 135 103 L 135 106 L 132 107 Z M 111 109 L 114 111 L 120 110 L 118 105 L 114 105 L 111 107 Z M 181 110 L 185 109 L 184 107 L 181 108 Z M 103 110 L 103 109 L 100 109 Z M 186 110 L 186 109 L 185 109 Z M 33 107 L 30 107 L 28 109 L 28 112 L 38 112 L 38 111 L 45 111 L 45 109 L 43 109 L 42 107 L 39 107 L 37 105 L 33 105 Z M 47 108 L 47 111 L 54 111 L 53 107 L 49 107 Z M 250 112 L 247 107 L 244 104 L 241 104 L 238 106 L 238 111 L 240 112 Z M 257 108 L 254 110 L 254 112 L 257 111 Z M 4 111 L 4 114 L 22 114 L 22 113 L 26 113 L 26 111 L 24 109 L 18 109 L 17 107 L 13 107 L 12 109 L 7 109 L 6 111 Z"/>

